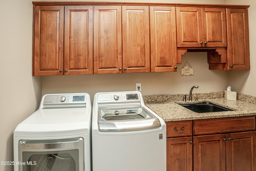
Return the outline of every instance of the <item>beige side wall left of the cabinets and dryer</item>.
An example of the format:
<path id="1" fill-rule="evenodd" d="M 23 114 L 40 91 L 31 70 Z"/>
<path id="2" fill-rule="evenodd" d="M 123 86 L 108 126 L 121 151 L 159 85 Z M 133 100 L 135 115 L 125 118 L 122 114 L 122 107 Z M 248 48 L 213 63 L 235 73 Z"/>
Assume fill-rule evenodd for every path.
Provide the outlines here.
<path id="1" fill-rule="evenodd" d="M 13 160 L 13 131 L 41 98 L 41 78 L 32 77 L 32 16 L 31 0 L 0 0 L 0 161 Z"/>

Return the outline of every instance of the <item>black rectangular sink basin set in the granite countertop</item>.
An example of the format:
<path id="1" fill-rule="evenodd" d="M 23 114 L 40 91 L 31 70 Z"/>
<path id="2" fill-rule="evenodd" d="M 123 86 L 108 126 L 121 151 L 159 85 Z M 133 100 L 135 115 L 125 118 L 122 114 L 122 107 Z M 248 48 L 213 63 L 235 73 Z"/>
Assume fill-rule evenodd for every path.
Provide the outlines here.
<path id="1" fill-rule="evenodd" d="M 190 109 L 197 113 L 205 113 L 205 112 L 216 112 L 216 111 L 233 111 L 232 109 L 228 109 L 226 107 L 222 107 L 208 101 L 194 103 L 194 104 L 179 104 L 187 109 Z"/>

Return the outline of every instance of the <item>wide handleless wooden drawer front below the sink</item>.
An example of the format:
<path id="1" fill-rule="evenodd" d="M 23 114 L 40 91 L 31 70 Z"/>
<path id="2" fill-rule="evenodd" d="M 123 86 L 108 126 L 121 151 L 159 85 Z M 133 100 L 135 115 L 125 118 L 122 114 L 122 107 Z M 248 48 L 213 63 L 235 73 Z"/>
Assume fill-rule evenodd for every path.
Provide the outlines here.
<path id="1" fill-rule="evenodd" d="M 255 116 L 193 121 L 193 135 L 253 131 L 255 128 Z"/>

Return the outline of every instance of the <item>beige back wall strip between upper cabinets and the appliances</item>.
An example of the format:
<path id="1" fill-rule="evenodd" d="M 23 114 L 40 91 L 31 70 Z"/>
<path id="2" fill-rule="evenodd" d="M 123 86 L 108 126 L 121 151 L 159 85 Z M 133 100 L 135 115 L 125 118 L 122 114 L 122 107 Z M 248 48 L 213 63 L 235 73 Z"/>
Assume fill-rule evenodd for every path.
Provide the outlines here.
<path id="1" fill-rule="evenodd" d="M 181 76 L 186 61 L 193 68 L 194 76 Z M 42 77 L 42 94 L 87 92 L 92 99 L 100 91 L 135 90 L 136 83 L 141 83 L 143 95 L 189 93 L 193 85 L 199 85 L 194 92 L 224 91 L 228 86 L 228 72 L 208 70 L 206 53 L 190 52 L 182 56 L 178 72 Z"/>

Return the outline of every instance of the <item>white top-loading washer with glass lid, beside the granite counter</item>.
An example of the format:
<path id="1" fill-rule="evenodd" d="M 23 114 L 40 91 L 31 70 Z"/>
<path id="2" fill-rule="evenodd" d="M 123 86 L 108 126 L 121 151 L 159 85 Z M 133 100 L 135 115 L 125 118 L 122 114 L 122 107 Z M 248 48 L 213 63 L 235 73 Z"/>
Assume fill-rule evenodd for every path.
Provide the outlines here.
<path id="1" fill-rule="evenodd" d="M 139 91 L 94 95 L 92 170 L 166 171 L 166 123 Z"/>

